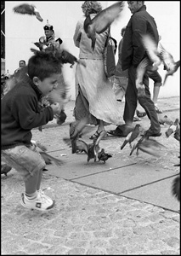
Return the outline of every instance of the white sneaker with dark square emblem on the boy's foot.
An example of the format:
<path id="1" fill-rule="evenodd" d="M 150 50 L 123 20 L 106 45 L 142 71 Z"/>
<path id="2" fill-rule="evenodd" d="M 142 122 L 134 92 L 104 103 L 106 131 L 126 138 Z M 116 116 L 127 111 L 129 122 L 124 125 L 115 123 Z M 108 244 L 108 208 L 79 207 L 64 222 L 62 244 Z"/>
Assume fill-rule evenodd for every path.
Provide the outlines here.
<path id="1" fill-rule="evenodd" d="M 29 209 L 37 209 L 38 211 L 48 211 L 54 207 L 55 201 L 44 193 L 38 193 L 35 200 L 29 200 L 25 193 L 21 194 L 20 204 Z"/>

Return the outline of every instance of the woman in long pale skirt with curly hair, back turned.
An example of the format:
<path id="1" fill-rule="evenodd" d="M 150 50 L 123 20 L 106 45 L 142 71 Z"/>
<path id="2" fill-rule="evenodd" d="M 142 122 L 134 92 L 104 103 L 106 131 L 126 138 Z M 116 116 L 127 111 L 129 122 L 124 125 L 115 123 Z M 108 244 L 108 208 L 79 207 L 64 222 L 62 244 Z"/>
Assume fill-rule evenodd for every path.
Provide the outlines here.
<path id="1" fill-rule="evenodd" d="M 82 4 L 85 17 L 90 15 L 91 19 L 101 10 L 97 1 L 85 1 Z M 96 133 L 91 137 L 93 139 L 99 136 L 100 131 L 105 131 L 105 125 L 120 125 L 122 117 L 110 80 L 105 76 L 103 53 L 108 30 L 96 34 L 95 47 L 92 49 L 92 41 L 83 29 L 84 20 L 77 22 L 73 37 L 74 44 L 80 49 L 80 64 L 76 66 L 74 115 L 76 119 L 87 116 L 89 124 L 98 125 Z"/>

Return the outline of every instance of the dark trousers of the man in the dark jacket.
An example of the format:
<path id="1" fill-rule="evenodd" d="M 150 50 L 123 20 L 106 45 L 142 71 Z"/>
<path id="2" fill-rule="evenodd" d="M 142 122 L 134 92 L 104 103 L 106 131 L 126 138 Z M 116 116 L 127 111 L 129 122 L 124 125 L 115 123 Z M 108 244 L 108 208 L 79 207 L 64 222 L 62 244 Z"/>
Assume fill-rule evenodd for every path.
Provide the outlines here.
<path id="1" fill-rule="evenodd" d="M 137 108 L 137 101 L 139 100 L 139 104 L 144 108 L 145 112 L 148 115 L 148 118 L 150 119 L 150 130 L 153 132 L 160 132 L 161 126 L 158 121 L 156 108 L 154 106 L 154 102 L 152 102 L 150 98 L 149 77 L 146 74 L 144 75 L 144 97 L 138 97 L 138 90 L 136 89 L 135 80 L 136 67 L 132 66 L 128 69 L 128 84 L 125 94 L 125 108 L 123 113 L 123 119 L 126 124 L 133 123 L 134 113 Z"/>

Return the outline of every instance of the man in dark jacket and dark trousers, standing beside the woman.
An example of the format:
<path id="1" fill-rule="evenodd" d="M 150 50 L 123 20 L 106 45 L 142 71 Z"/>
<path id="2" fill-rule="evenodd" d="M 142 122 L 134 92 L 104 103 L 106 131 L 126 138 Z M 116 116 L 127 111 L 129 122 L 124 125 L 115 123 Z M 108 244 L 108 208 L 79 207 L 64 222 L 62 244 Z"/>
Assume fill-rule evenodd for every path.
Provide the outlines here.
<path id="1" fill-rule="evenodd" d="M 159 34 L 154 18 L 146 11 L 144 1 L 127 1 L 128 9 L 133 14 L 127 23 L 124 40 L 122 43 L 122 70 L 128 70 L 128 84 L 125 95 L 125 108 L 123 119 L 125 125 L 119 125 L 116 130 L 110 131 L 112 135 L 122 136 L 122 129 L 127 125 L 132 125 L 137 101 L 144 108 L 150 119 L 150 129 L 146 131 L 146 136 L 161 136 L 161 126 L 156 114 L 154 102 L 150 98 L 149 77 L 144 74 L 143 84 L 145 86 L 145 96 L 138 97 L 136 88 L 136 71 L 139 63 L 148 57 L 142 44 L 142 35 L 149 33 L 152 38 L 159 42 Z M 127 134 L 127 133 L 126 133 Z M 124 134 L 124 136 L 126 136 Z"/>

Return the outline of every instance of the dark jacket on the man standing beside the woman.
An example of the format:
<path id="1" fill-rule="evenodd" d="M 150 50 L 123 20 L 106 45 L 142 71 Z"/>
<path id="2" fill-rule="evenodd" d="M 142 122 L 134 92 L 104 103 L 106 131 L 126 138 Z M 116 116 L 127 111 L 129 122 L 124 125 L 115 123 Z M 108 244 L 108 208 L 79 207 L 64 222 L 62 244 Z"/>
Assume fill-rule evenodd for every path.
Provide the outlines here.
<path id="1" fill-rule="evenodd" d="M 140 61 L 147 56 L 141 41 L 142 34 L 149 33 L 155 40 L 159 41 L 156 21 L 142 6 L 127 23 L 124 40 L 122 44 L 122 70 L 138 67 Z"/>

